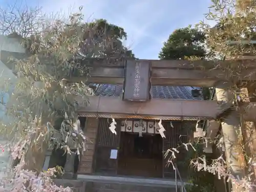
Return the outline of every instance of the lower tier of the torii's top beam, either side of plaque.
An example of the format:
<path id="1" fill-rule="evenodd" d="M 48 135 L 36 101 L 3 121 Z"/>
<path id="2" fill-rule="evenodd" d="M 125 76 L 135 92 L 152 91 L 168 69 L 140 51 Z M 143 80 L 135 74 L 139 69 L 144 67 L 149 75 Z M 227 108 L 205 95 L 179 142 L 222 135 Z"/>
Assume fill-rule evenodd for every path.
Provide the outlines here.
<path id="1" fill-rule="evenodd" d="M 240 80 L 250 81 L 256 80 L 256 69 L 242 70 Z M 189 70 L 189 69 L 164 69 L 152 68 L 151 84 L 154 86 L 195 86 L 195 87 L 214 87 L 216 82 L 233 78 L 239 80 L 238 77 L 231 77 L 220 70 Z M 82 80 L 83 77 L 74 78 Z M 91 70 L 89 82 L 100 84 L 123 84 L 124 69 L 123 68 L 94 68 Z"/>

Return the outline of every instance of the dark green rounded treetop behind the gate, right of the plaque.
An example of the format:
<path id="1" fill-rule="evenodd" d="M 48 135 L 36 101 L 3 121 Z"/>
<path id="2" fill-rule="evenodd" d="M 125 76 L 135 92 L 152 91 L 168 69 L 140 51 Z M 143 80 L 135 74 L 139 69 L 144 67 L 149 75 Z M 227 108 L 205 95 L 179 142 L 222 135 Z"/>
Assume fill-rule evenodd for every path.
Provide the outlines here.
<path id="1" fill-rule="evenodd" d="M 204 58 L 206 54 L 204 41 L 204 33 L 191 26 L 175 30 L 164 42 L 159 58 L 184 59 L 190 56 Z"/>

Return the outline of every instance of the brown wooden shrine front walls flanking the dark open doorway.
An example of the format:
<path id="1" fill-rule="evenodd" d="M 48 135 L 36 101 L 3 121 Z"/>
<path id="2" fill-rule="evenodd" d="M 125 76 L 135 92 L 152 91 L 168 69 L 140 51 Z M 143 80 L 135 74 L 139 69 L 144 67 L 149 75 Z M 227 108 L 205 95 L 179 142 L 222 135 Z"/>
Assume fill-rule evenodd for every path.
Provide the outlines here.
<path id="1" fill-rule="evenodd" d="M 84 133 L 89 138 L 87 141 L 88 150 L 81 157 L 78 168 L 79 174 L 117 175 L 118 162 L 117 159 L 110 159 L 110 154 L 111 150 L 119 151 L 121 133 L 118 127 L 120 127 L 120 121 L 117 121 L 117 135 L 109 130 L 111 122 L 111 119 L 87 118 Z M 195 127 L 195 123 L 195 121 L 172 121 L 174 127 L 170 125 L 169 121 L 163 123 L 166 130 L 166 139 L 163 139 L 163 156 L 164 152 L 169 148 L 177 147 L 182 142 L 187 142 L 189 137 L 188 130 L 191 131 L 191 126 Z M 181 148 L 183 150 L 180 150 L 176 161 L 183 161 L 186 155 L 184 147 Z M 163 158 L 163 177 L 174 177 L 173 167 L 172 165 L 167 165 L 167 160 L 168 156 L 165 159 Z M 180 172 L 184 168 L 186 172 L 187 167 L 179 167 Z"/>

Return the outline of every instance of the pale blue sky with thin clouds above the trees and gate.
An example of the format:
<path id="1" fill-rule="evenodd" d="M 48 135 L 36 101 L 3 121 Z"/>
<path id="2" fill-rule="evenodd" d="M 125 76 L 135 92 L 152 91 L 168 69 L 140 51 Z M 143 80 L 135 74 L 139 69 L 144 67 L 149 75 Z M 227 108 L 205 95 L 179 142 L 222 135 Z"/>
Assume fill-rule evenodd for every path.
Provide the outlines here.
<path id="1" fill-rule="evenodd" d="M 0 0 L 0 6 L 7 1 Z M 61 11 L 62 14 L 83 6 L 85 18 L 105 18 L 123 27 L 128 35 L 125 45 L 136 57 L 157 59 L 169 34 L 204 19 L 210 0 L 16 0 L 16 3 L 39 5 L 46 12 Z"/>

